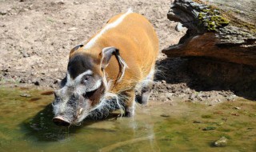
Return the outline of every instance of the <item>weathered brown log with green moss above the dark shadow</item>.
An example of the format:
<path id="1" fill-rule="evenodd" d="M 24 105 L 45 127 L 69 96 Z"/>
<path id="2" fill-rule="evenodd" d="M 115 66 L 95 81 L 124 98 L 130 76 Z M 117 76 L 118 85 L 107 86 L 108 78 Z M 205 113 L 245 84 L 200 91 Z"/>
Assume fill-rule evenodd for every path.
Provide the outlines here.
<path id="1" fill-rule="evenodd" d="M 188 29 L 168 57 L 206 57 L 256 66 L 254 0 L 175 0 L 167 17 Z"/>

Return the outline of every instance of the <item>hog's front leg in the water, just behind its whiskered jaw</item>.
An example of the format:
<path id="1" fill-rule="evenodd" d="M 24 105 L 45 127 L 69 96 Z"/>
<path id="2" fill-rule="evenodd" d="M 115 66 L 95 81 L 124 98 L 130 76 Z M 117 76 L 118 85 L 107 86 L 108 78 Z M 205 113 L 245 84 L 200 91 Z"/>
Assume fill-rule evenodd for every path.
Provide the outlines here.
<path id="1" fill-rule="evenodd" d="M 134 116 L 135 110 L 135 90 L 127 90 L 124 94 L 124 108 L 125 116 L 132 117 Z"/>

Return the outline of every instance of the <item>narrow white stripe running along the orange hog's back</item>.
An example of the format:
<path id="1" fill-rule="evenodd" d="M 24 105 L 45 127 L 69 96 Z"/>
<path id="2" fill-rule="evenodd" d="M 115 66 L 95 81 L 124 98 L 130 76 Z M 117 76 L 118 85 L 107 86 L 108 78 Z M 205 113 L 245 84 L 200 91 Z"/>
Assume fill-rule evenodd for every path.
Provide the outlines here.
<path id="1" fill-rule="evenodd" d="M 107 24 L 94 38 L 90 40 L 90 42 L 87 42 L 86 46 L 83 48 L 85 50 L 90 49 L 92 46 L 94 46 L 94 43 L 104 34 L 107 30 L 110 30 L 116 26 L 118 26 L 124 18 L 130 13 L 133 13 L 133 10 L 129 9 L 126 14 L 122 14 L 116 21 L 111 22 L 110 24 Z"/>

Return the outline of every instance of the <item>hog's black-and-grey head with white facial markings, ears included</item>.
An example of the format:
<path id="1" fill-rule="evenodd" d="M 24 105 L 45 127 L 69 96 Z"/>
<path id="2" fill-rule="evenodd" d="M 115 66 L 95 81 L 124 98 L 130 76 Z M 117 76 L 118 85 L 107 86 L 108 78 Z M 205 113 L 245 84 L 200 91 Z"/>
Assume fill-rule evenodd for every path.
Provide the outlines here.
<path id="1" fill-rule="evenodd" d="M 67 66 L 66 78 L 61 82 L 61 89 L 54 91 L 53 122 L 58 126 L 82 122 L 100 104 L 107 91 L 104 69 L 112 55 L 117 58 L 122 73 L 126 67 L 126 63 L 114 47 L 104 48 L 96 58 L 84 53 L 82 47 L 76 46 L 70 51 L 72 55 Z M 75 51 L 77 52 L 74 54 Z M 119 77 L 118 80 L 121 79 Z"/>

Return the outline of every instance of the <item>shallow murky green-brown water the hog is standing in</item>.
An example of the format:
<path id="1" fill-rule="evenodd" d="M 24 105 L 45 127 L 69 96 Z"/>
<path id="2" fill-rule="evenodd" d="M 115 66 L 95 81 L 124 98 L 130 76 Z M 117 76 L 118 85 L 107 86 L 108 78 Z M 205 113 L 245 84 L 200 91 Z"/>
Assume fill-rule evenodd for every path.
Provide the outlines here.
<path id="1" fill-rule="evenodd" d="M 22 96 L 25 97 L 22 97 Z M 51 122 L 51 92 L 0 88 L 0 151 L 256 151 L 256 102 L 137 105 L 134 118 Z M 227 138 L 226 146 L 214 142 Z"/>

